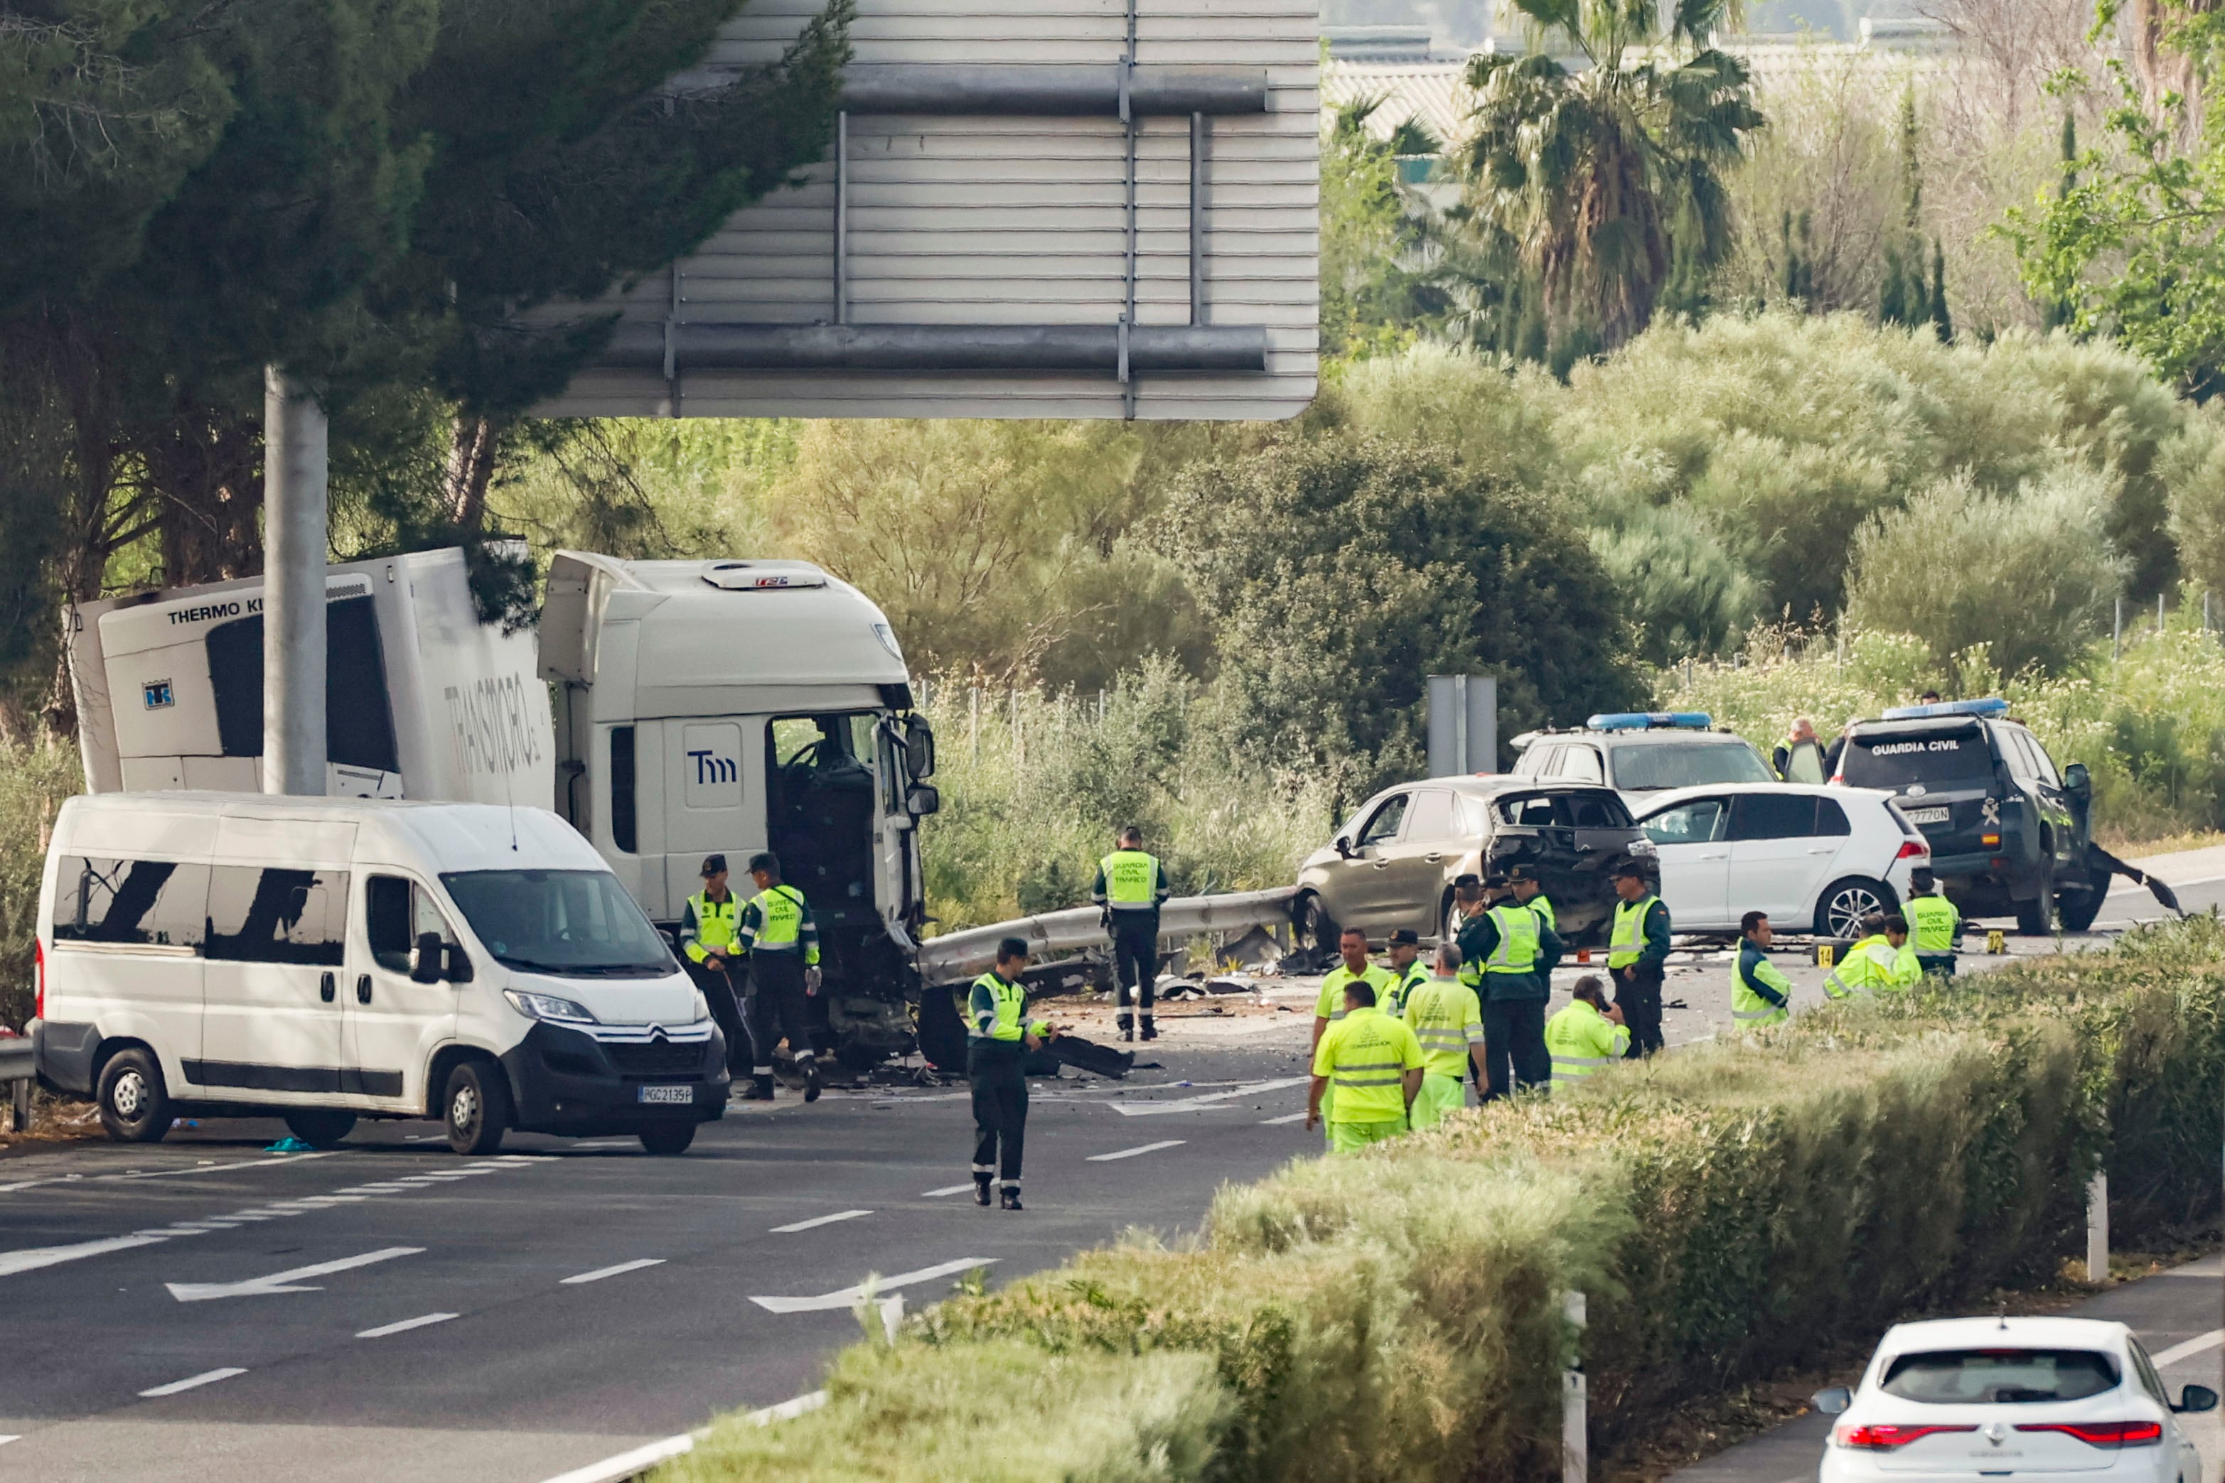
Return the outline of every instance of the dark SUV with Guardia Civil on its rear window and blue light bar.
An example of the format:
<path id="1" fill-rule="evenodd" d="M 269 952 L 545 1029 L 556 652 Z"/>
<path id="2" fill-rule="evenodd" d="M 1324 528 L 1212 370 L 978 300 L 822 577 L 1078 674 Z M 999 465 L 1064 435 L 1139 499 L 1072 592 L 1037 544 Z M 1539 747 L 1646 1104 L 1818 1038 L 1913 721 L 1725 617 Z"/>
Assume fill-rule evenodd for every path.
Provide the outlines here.
<path id="1" fill-rule="evenodd" d="M 1962 916 L 2016 914 L 2020 932 L 2085 932 L 2109 892 L 2092 847 L 2085 763 L 2056 769 L 2009 703 L 1905 705 L 1847 727 L 1831 783 L 1878 787 L 1931 845 Z"/>

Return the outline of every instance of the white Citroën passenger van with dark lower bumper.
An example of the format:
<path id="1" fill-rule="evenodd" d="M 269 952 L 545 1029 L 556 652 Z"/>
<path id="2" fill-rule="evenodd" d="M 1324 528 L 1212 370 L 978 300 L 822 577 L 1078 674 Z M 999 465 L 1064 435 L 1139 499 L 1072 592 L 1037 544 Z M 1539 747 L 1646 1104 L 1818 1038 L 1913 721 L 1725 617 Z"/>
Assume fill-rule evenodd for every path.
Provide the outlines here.
<path id="1" fill-rule="evenodd" d="M 40 887 L 40 1076 L 109 1136 L 180 1112 L 441 1118 L 679 1154 L 725 1038 L 619 878 L 547 809 L 263 794 L 62 805 Z"/>

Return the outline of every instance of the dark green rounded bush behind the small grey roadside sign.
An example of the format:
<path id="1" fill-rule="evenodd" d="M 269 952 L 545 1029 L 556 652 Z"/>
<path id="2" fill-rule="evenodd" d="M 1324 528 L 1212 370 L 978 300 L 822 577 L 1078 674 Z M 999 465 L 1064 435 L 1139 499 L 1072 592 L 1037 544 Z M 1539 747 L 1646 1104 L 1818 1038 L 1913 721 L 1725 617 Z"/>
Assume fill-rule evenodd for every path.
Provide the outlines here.
<path id="1" fill-rule="evenodd" d="M 1193 467 L 1161 547 L 1215 625 L 1242 740 L 1344 800 L 1420 769 L 1431 674 L 1497 674 L 1502 736 L 1635 694 L 1564 509 L 1428 442 L 1324 431 Z"/>

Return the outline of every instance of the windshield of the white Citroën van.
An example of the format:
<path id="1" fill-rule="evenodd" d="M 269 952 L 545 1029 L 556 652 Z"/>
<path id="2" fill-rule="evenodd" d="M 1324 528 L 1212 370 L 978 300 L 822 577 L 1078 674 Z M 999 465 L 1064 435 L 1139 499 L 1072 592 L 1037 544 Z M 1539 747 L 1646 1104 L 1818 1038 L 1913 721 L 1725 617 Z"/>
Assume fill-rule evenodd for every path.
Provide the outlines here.
<path id="1" fill-rule="evenodd" d="M 507 967 L 570 978 L 679 972 L 665 940 L 601 869 L 461 869 L 441 876 L 472 932 Z"/>

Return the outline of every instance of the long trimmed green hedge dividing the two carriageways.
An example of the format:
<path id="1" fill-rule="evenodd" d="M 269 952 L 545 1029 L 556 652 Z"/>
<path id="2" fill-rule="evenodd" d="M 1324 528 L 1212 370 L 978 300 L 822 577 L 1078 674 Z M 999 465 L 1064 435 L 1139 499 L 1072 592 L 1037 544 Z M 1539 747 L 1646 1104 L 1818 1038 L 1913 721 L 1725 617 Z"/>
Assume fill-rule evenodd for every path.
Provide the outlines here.
<path id="1" fill-rule="evenodd" d="M 725 1421 L 656 1479 L 1558 1476 L 1569 1287 L 1611 1454 L 2054 1278 L 2100 1165 L 2120 1245 L 2214 1216 L 2221 1005 L 2225 925 L 2198 918 L 1299 1158 L 1193 1241 L 928 1307 L 841 1354 L 823 1410 Z"/>

